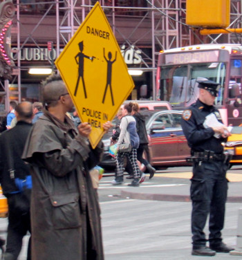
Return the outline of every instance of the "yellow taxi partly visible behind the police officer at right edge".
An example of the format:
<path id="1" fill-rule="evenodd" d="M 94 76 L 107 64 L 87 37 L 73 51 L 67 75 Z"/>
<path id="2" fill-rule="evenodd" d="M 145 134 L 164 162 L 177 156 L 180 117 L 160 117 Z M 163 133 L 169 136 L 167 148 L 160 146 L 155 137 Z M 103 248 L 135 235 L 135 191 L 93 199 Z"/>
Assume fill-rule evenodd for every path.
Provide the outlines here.
<path id="1" fill-rule="evenodd" d="M 230 151 L 230 165 L 242 165 L 242 127 L 233 127 L 232 135 L 225 142 L 225 150 Z"/>

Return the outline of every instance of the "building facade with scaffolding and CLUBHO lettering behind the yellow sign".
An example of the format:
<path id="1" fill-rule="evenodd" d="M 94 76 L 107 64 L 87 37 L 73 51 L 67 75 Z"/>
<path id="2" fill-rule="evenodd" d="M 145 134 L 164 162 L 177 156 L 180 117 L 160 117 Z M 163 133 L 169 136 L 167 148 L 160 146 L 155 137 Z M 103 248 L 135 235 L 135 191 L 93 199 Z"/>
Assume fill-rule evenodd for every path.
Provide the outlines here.
<path id="1" fill-rule="evenodd" d="M 4 1 L 3 1 L 4 2 Z M 241 0 L 231 0 L 231 28 L 241 28 Z M 9 100 L 41 100 L 41 80 L 30 68 L 53 68 L 54 61 L 95 4 L 93 0 L 15 0 L 10 80 L 1 80 L 0 113 Z M 101 0 L 136 85 L 130 99 L 153 99 L 156 62 L 160 50 L 205 43 L 240 43 L 239 35 L 199 35 L 185 24 L 186 0 Z M 50 47 L 51 46 L 51 47 Z M 53 48 L 52 48 L 53 47 Z"/>

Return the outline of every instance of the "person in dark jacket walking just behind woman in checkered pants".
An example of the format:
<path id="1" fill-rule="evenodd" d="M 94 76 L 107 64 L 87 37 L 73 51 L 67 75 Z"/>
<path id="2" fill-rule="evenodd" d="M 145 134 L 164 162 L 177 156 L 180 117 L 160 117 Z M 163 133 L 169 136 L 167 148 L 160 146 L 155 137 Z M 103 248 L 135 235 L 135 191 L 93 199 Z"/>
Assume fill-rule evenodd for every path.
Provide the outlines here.
<path id="1" fill-rule="evenodd" d="M 145 117 L 139 113 L 140 107 L 137 102 L 132 102 L 132 115 L 136 120 L 136 129 L 138 136 L 140 138 L 140 146 L 137 149 L 137 159 L 145 165 L 149 171 L 149 178 L 153 178 L 153 175 L 156 172 L 156 169 L 151 166 L 151 164 L 143 158 L 144 151 L 148 151 L 147 157 L 149 158 L 149 140 L 147 136 L 147 130 L 145 127 Z"/>

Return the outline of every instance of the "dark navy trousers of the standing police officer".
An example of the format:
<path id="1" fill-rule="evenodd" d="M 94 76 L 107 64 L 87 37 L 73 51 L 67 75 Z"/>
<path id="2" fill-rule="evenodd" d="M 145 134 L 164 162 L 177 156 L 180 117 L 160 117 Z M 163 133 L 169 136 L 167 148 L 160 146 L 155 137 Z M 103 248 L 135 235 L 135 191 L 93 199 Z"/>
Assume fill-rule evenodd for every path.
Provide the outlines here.
<path id="1" fill-rule="evenodd" d="M 210 244 L 220 243 L 227 198 L 227 165 L 223 161 L 194 163 L 191 179 L 193 248 L 206 243 L 205 223 L 210 214 Z"/>

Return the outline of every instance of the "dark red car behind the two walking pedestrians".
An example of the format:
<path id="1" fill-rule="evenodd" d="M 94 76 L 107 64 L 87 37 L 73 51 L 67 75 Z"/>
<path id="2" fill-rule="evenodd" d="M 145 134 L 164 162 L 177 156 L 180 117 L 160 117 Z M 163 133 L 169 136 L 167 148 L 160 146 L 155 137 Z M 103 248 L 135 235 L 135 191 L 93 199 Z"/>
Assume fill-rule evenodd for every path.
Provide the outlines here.
<path id="1" fill-rule="evenodd" d="M 190 149 L 180 125 L 183 112 L 165 110 L 140 113 L 146 119 L 151 165 L 157 168 L 190 165 L 185 160 L 190 155 Z M 115 167 L 115 158 L 109 155 L 110 137 L 111 133 L 107 133 L 102 139 L 104 156 L 100 166 L 106 169 Z"/>

